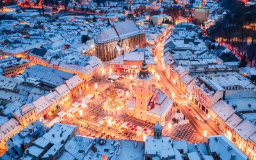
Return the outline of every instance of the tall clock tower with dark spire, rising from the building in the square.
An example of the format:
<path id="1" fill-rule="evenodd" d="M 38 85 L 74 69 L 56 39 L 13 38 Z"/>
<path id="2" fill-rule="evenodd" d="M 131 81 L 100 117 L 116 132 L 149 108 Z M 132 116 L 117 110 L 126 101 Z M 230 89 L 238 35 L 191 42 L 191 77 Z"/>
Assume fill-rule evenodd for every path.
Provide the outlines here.
<path id="1" fill-rule="evenodd" d="M 147 119 L 147 106 L 153 92 L 153 76 L 148 72 L 148 66 L 145 60 L 142 63 L 139 76 L 136 78 L 136 117 L 141 120 Z"/>

